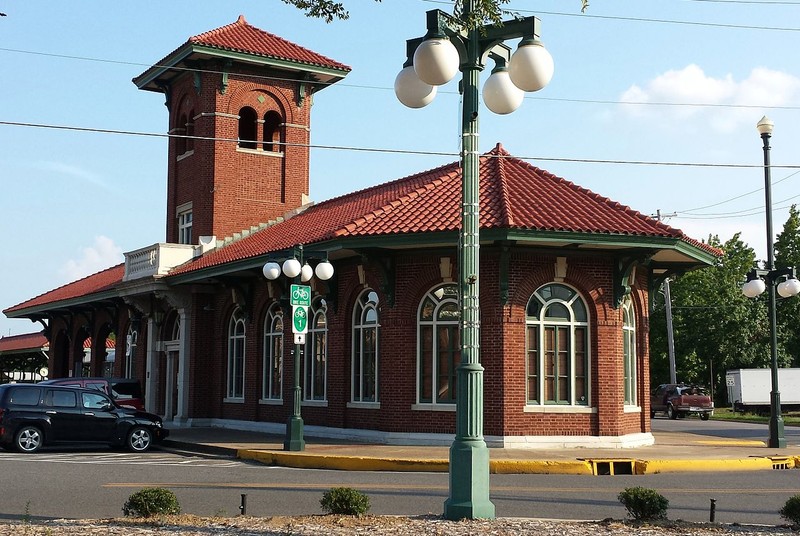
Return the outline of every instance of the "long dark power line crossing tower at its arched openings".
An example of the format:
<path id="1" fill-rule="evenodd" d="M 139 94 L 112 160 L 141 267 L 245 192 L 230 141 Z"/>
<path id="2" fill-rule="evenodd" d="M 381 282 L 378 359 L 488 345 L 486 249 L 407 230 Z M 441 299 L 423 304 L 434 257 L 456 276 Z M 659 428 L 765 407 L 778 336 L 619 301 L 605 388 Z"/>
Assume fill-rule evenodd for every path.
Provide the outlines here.
<path id="1" fill-rule="evenodd" d="M 28 127 L 28 128 L 41 128 L 50 130 L 67 130 L 73 132 L 86 132 L 95 134 L 116 134 L 125 136 L 139 136 L 150 138 L 183 138 L 199 141 L 214 141 L 225 143 L 239 143 L 240 140 L 235 138 L 217 138 L 205 136 L 185 136 L 180 134 L 165 134 L 158 132 L 138 132 L 134 130 L 121 130 L 121 129 L 107 129 L 107 128 L 93 128 L 93 127 L 77 127 L 69 125 L 53 125 L 45 123 L 27 123 L 20 121 L 0 121 L 0 125 L 12 127 Z M 353 151 L 353 152 L 366 152 L 366 153 L 384 153 L 384 154 L 406 154 L 416 156 L 446 156 L 456 157 L 460 153 L 454 151 L 419 151 L 411 149 L 387 149 L 376 147 L 356 147 L 346 145 L 320 145 L 320 144 L 301 144 L 301 143 L 286 143 L 276 142 L 276 145 L 283 147 L 303 147 L 308 149 L 327 149 L 334 151 Z M 516 158 L 518 160 L 530 160 L 540 162 L 570 162 L 579 164 L 616 164 L 616 165 L 634 165 L 634 166 L 667 166 L 667 167 L 699 167 L 699 168 L 719 168 L 719 169 L 760 169 L 761 164 L 721 164 L 710 162 L 668 162 L 668 161 L 655 161 L 655 160 L 605 160 L 599 158 L 565 158 L 565 157 L 548 157 L 548 156 L 497 156 L 496 158 Z M 774 165 L 775 169 L 797 169 L 800 170 L 800 164 L 789 165 Z"/>

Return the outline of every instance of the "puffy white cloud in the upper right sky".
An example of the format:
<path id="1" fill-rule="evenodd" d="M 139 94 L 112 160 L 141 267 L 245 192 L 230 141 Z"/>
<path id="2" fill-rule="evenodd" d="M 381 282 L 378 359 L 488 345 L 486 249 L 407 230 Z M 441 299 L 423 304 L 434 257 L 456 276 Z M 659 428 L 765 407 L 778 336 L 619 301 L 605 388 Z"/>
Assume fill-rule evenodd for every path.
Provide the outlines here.
<path id="1" fill-rule="evenodd" d="M 748 106 L 781 106 L 800 97 L 800 78 L 782 71 L 757 67 L 744 80 L 733 75 L 708 76 L 698 65 L 670 70 L 644 83 L 629 87 L 620 96 L 626 103 L 682 103 Z M 718 132 L 731 132 L 753 122 L 752 108 L 724 106 L 640 106 L 621 105 L 624 113 L 644 120 L 678 123 L 703 119 Z"/>

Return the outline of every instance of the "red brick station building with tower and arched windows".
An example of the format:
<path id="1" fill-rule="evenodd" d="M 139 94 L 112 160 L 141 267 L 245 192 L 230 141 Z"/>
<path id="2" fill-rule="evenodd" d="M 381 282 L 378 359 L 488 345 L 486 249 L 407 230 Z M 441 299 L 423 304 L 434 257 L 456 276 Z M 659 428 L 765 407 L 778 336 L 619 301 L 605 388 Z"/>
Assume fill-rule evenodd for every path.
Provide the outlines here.
<path id="1" fill-rule="evenodd" d="M 166 243 L 10 307 L 45 327 L 52 377 L 136 377 L 166 420 L 282 432 L 294 338 L 268 261 L 312 278 L 300 356 L 307 434 L 449 443 L 460 360 L 461 170 L 308 202 L 316 91 L 349 67 L 249 25 L 190 38 L 134 79 L 169 110 Z M 648 312 L 719 252 L 512 157 L 481 157 L 481 363 L 490 446 L 652 442 Z M 225 238 L 222 238 L 225 237 Z"/>

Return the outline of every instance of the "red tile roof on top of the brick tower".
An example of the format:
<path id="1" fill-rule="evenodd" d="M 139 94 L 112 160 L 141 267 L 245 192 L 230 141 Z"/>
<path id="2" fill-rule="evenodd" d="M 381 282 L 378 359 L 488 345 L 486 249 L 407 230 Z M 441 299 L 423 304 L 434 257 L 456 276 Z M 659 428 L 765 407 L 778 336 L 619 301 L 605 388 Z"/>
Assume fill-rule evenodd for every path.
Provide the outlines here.
<path id="1" fill-rule="evenodd" d="M 236 22 L 189 38 L 189 43 L 245 52 L 268 58 L 291 60 L 330 69 L 350 71 L 350 67 L 307 48 L 296 45 L 282 37 L 265 32 L 249 24 L 243 15 Z"/>

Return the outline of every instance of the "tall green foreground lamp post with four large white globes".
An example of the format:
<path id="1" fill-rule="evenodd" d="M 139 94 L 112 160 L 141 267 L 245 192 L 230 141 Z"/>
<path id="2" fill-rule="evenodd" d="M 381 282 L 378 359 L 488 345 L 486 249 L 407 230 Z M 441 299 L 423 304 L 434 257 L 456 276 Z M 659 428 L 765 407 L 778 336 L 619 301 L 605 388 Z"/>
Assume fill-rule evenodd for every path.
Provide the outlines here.
<path id="1" fill-rule="evenodd" d="M 489 451 L 483 439 L 483 367 L 480 364 L 479 153 L 478 84 L 488 59 L 495 69 L 484 86 L 484 103 L 494 113 L 507 114 L 521 103 L 524 91 L 537 91 L 553 76 L 553 58 L 537 40 L 539 19 L 525 17 L 474 27 L 477 0 L 464 0 L 459 18 L 443 11 L 427 12 L 428 33 L 406 42 L 407 60 L 395 80 L 404 105 L 421 108 L 436 96 L 436 87 L 460 70 L 461 238 L 461 362 L 456 376 L 456 435 L 450 447 L 450 493 L 444 503 L 448 519 L 494 518 L 489 500 Z M 517 51 L 503 44 L 522 38 Z"/>

